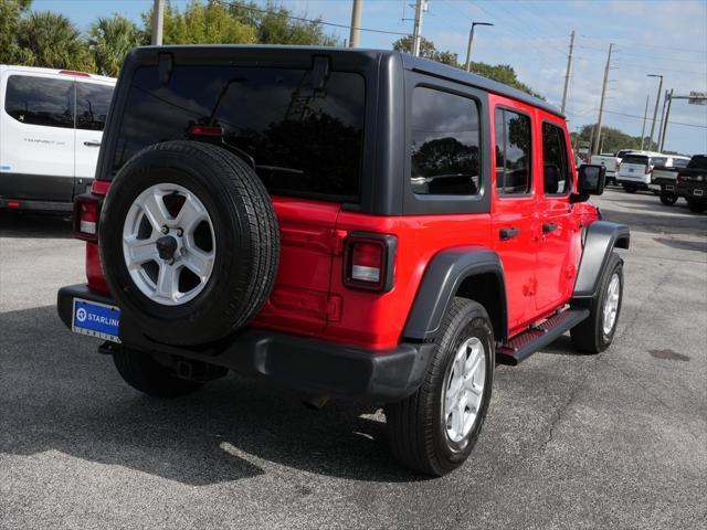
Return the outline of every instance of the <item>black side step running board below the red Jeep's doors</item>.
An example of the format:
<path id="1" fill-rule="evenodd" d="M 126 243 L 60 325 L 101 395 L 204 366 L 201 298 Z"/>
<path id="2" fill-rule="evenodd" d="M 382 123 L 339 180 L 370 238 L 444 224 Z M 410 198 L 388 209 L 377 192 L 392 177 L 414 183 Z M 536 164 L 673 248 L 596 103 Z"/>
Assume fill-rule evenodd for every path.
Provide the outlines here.
<path id="1" fill-rule="evenodd" d="M 545 322 L 515 336 L 496 349 L 496 362 L 515 367 L 539 349 L 548 346 L 564 331 L 570 330 L 589 316 L 589 309 L 568 309 Z"/>

